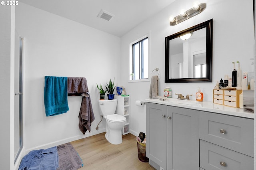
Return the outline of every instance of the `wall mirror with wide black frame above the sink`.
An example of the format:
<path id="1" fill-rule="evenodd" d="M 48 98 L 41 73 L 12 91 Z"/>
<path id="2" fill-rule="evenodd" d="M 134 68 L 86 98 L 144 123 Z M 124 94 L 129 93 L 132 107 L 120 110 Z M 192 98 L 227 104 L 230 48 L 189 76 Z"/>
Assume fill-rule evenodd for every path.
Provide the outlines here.
<path id="1" fill-rule="evenodd" d="M 212 82 L 212 22 L 165 38 L 165 83 Z"/>

